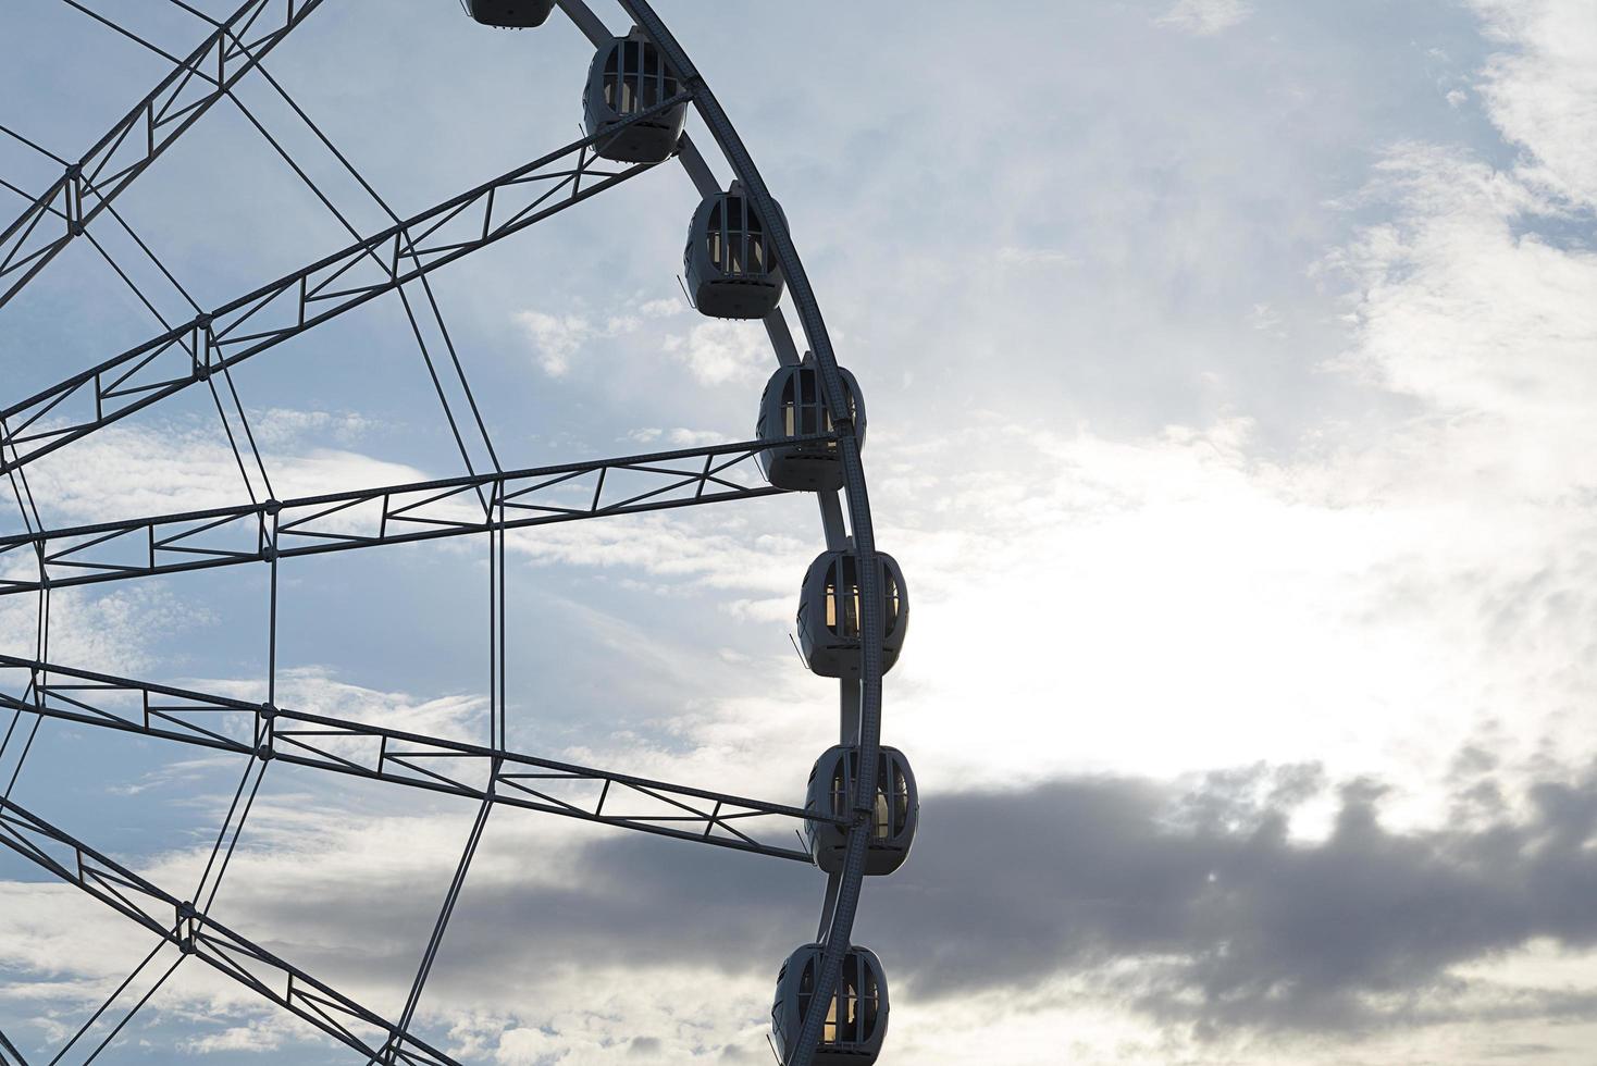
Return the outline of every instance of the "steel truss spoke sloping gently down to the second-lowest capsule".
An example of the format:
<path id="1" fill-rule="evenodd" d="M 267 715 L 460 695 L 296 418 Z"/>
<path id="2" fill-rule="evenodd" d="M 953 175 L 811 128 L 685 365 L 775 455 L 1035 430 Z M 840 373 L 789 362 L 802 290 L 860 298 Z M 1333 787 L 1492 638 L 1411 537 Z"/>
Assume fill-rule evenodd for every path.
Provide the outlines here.
<path id="1" fill-rule="evenodd" d="M 846 819 L 361 721 L 0 656 L 0 707 L 238 755 L 810 862 L 787 836 Z M 16 693 L 16 694 L 13 694 Z"/>

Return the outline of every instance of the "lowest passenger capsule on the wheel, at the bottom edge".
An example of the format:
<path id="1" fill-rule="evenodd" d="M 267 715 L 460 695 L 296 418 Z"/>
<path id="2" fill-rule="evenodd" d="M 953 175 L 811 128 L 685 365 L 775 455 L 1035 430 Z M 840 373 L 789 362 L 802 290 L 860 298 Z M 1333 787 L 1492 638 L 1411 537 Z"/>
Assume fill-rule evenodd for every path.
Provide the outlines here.
<path id="1" fill-rule="evenodd" d="M 787 1061 L 798 1040 L 805 1015 L 814 999 L 814 978 L 821 969 L 821 945 L 806 943 L 787 956 L 776 975 L 776 1002 L 771 1004 L 771 1032 L 776 1053 Z M 888 1036 L 888 983 L 882 962 L 866 948 L 850 948 L 837 978 L 837 991 L 826 1009 L 814 1066 L 870 1066 Z"/>

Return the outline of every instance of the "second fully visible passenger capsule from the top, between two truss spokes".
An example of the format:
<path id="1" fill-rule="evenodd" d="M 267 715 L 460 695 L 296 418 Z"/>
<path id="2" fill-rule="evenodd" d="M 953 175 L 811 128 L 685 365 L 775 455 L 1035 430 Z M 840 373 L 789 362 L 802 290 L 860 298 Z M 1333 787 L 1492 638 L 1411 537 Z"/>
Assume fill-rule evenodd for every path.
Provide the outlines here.
<path id="1" fill-rule="evenodd" d="M 765 318 L 775 311 L 783 298 L 783 270 L 773 251 L 741 182 L 706 196 L 693 212 L 682 254 L 693 306 L 712 318 Z"/>

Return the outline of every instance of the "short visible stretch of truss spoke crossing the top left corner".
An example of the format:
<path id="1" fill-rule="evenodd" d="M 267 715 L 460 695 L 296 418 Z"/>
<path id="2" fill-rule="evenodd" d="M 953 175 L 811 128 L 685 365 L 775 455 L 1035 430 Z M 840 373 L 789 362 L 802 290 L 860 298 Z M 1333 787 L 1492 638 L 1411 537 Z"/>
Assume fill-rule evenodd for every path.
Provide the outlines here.
<path id="1" fill-rule="evenodd" d="M 187 59 L 176 61 L 160 85 L 0 231 L 0 306 L 318 6 L 321 0 L 246 0 Z M 244 43 L 252 34 L 259 35 Z M 48 215 L 65 225 L 40 230 Z"/>

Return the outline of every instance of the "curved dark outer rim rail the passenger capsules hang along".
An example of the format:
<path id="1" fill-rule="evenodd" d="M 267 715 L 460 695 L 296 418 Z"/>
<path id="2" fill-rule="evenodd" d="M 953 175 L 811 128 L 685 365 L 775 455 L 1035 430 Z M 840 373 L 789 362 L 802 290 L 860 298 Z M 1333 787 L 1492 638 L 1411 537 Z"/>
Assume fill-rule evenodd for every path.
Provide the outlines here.
<path id="1" fill-rule="evenodd" d="M 581 0 L 559 0 L 561 6 L 585 32 L 592 35 L 596 19 Z M 803 329 L 810 351 L 814 353 L 816 365 L 821 372 L 826 389 L 826 405 L 832 415 L 832 424 L 838 436 L 838 452 L 843 460 L 843 485 L 848 496 L 848 519 L 854 539 L 854 552 L 859 555 L 859 597 L 862 634 L 861 678 L 858 681 L 858 742 L 859 742 L 859 776 L 854 779 L 854 796 L 851 809 L 851 825 L 848 830 L 848 851 L 843 859 L 843 873 L 827 886 L 827 911 L 830 924 L 826 930 L 826 950 L 821 954 L 821 970 L 816 975 L 818 986 L 811 1002 L 826 1002 L 832 997 L 838 973 L 842 970 L 843 953 L 848 951 L 850 935 L 854 927 L 854 916 L 859 910 L 859 894 L 866 876 L 866 849 L 870 843 L 870 801 L 877 790 L 877 753 L 882 745 L 882 598 L 880 573 L 877 567 L 875 531 L 870 522 L 870 499 L 866 495 L 866 469 L 859 458 L 859 437 L 843 391 L 843 378 L 837 370 L 837 354 L 832 351 L 830 335 L 826 332 L 826 321 L 821 318 L 821 305 L 816 300 L 810 278 L 805 274 L 787 231 L 786 219 L 776 211 L 765 179 L 760 177 L 754 156 L 749 153 L 731 120 L 704 77 L 688 59 L 687 51 L 666 27 L 647 0 L 620 0 L 621 6 L 632 16 L 632 21 L 644 29 L 666 57 L 666 62 L 677 72 L 679 83 L 693 94 L 693 107 L 709 128 L 715 144 L 731 164 L 738 180 L 743 182 L 747 195 L 767 220 L 767 233 L 776 247 L 776 262 L 783 268 L 787 281 L 787 292 L 794 308 L 798 311 L 798 324 Z M 684 160 L 690 164 L 692 161 Z M 775 334 L 775 330 L 773 330 Z M 778 354 L 783 346 L 778 345 Z M 822 514 L 827 514 L 822 499 Z M 837 523 L 827 522 L 827 531 L 835 533 Z M 850 726 L 850 688 L 843 688 L 845 732 Z M 826 914 L 822 914 L 826 922 Z M 786 1066 L 810 1066 L 816 1044 L 821 1040 L 821 1025 L 826 1012 L 811 1010 L 805 1017 L 803 1029 L 798 1032 L 795 1048 Z"/>

